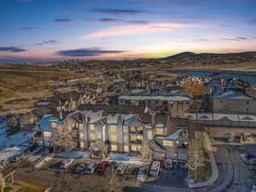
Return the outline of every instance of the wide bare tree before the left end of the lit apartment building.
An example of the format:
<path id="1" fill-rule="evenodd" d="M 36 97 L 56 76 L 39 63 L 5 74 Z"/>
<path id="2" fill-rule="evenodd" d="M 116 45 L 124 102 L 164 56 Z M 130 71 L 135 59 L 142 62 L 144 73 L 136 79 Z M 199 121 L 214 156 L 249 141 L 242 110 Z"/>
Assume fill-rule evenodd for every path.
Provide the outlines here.
<path id="1" fill-rule="evenodd" d="M 73 150 L 78 147 L 79 131 L 76 128 L 68 130 L 67 126 L 55 128 L 51 143 L 60 150 Z"/>

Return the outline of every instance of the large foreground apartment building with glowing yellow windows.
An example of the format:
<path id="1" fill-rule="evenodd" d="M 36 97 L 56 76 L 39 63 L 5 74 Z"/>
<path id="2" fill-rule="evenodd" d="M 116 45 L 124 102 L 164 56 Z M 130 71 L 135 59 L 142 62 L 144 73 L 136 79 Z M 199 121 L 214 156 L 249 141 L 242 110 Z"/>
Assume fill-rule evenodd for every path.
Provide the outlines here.
<path id="1" fill-rule="evenodd" d="M 50 137 L 55 129 L 66 127 L 79 131 L 79 150 L 103 152 L 107 148 L 108 152 L 141 154 L 143 146 L 148 145 L 154 153 L 154 159 L 161 160 L 175 157 L 177 149 L 180 151 L 181 145 L 188 142 L 188 139 L 181 138 L 183 134 L 172 136 L 178 129 L 188 130 L 188 127 L 172 126 L 172 119 L 168 115 L 153 113 L 152 110 L 148 110 L 150 113 L 147 110 L 141 113 L 131 113 L 131 110 L 129 113 L 123 107 L 115 108 L 111 113 L 109 106 L 95 106 L 93 110 L 88 109 L 90 106 L 85 108 L 87 109 L 68 114 L 61 121 L 45 116 L 39 124 L 43 143 L 50 146 Z M 138 108 L 140 107 L 134 107 L 133 112 L 140 111 Z"/>

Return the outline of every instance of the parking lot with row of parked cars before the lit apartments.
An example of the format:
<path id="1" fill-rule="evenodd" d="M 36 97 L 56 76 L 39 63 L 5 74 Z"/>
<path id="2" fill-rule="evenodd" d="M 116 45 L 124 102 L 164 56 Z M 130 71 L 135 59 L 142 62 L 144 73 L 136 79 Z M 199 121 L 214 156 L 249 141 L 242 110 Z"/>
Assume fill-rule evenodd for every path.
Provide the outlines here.
<path id="1" fill-rule="evenodd" d="M 180 163 L 173 164 L 171 169 L 166 170 L 160 161 L 154 161 L 151 166 L 142 166 L 90 158 L 68 159 L 55 157 L 54 154 L 47 154 L 46 157 L 46 154 L 41 154 L 42 150 L 35 151 L 26 154 L 25 158 L 32 161 L 34 153 L 40 152 L 38 159 L 33 159 L 33 168 L 32 166 L 22 166 L 15 172 L 15 177 L 28 183 L 43 184 L 49 187 L 60 186 L 58 183 L 66 183 L 61 189 L 53 191 L 65 191 L 66 189 L 76 192 L 83 191 L 83 189 L 107 190 L 109 183 L 104 172 L 110 165 L 114 165 L 114 170 L 118 172 L 116 183 L 119 189 L 127 186 L 143 189 L 143 185 L 187 189 L 185 178 L 188 173 L 185 166 Z M 19 161 L 22 162 L 21 159 Z M 140 172 L 142 169 L 143 172 Z"/>

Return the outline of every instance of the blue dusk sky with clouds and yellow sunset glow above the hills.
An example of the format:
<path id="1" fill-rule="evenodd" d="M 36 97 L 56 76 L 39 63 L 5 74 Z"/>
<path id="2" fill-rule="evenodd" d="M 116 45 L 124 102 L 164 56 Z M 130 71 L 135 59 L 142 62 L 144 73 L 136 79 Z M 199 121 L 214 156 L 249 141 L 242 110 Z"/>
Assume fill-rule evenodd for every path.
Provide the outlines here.
<path id="1" fill-rule="evenodd" d="M 255 0 L 0 0 L 0 62 L 256 50 Z"/>

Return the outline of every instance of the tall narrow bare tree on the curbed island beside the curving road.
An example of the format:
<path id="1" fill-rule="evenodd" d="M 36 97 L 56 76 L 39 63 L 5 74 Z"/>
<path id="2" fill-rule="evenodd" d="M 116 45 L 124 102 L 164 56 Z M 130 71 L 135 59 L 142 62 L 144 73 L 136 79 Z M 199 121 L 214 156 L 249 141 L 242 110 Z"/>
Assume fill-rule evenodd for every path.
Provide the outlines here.
<path id="1" fill-rule="evenodd" d="M 193 140 L 189 144 L 189 160 L 188 160 L 188 167 L 190 170 L 195 171 L 195 178 L 197 178 L 197 170 L 198 167 L 204 165 L 205 157 L 203 151 L 203 143 L 201 140 Z"/>

